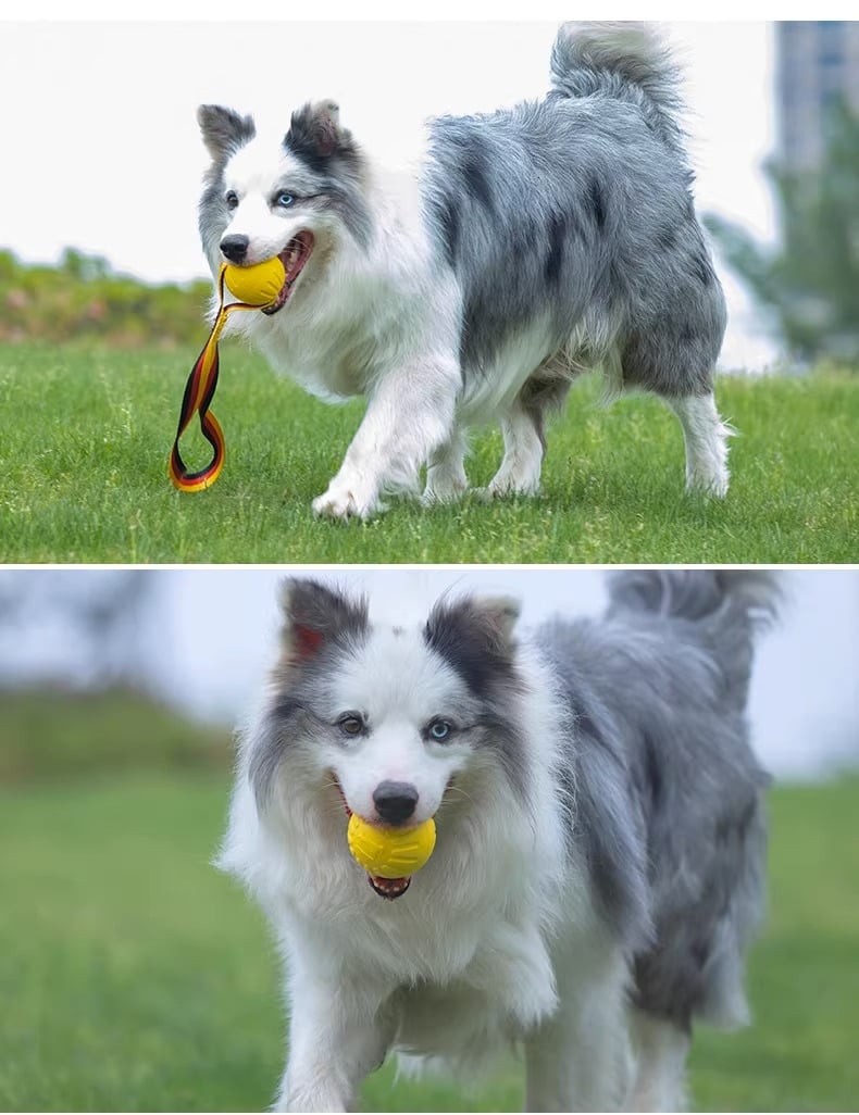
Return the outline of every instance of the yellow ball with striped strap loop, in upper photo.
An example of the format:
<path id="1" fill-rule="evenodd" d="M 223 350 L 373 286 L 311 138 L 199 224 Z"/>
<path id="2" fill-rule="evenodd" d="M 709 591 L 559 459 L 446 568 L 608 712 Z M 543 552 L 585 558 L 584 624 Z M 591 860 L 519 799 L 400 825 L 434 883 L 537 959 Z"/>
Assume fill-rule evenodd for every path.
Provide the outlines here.
<path id="1" fill-rule="evenodd" d="M 263 310 L 271 306 L 277 300 L 284 279 L 283 264 L 277 255 L 248 268 L 234 268 L 228 263 L 221 268 L 218 277 L 218 294 L 221 303 L 218 317 L 212 326 L 209 340 L 196 358 L 185 385 L 178 428 L 173 442 L 173 452 L 170 455 L 170 478 L 181 492 L 201 492 L 203 488 L 211 487 L 223 468 L 224 436 L 218 419 L 210 413 L 209 407 L 212 404 L 215 387 L 218 387 L 220 363 L 218 339 L 226 324 L 226 319 L 233 310 Z M 224 284 L 239 299 L 238 302 L 224 306 Z M 200 414 L 200 428 L 203 437 L 212 446 L 212 459 L 205 468 L 190 473 L 178 452 L 178 439 L 197 413 Z"/>

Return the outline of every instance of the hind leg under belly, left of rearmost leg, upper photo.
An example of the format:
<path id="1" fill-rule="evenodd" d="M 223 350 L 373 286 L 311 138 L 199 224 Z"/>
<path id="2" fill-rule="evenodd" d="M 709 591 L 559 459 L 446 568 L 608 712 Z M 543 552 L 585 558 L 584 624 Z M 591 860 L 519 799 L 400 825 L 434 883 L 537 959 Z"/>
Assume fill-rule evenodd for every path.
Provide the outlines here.
<path id="1" fill-rule="evenodd" d="M 535 495 L 546 456 L 546 415 L 560 409 L 570 384 L 567 379 L 532 377 L 501 420 L 504 458 L 486 495 Z"/>

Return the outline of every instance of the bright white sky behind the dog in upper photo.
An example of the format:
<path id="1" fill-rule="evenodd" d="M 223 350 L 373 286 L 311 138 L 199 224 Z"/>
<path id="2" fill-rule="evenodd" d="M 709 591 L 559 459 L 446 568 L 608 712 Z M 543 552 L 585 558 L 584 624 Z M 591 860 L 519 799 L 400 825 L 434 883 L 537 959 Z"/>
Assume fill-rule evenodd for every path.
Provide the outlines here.
<path id="1" fill-rule="evenodd" d="M 539 7 L 517 6 L 517 14 Z M 35 2 L 28 13 L 44 8 Z M 365 146 L 406 166 L 424 118 L 492 110 L 547 90 L 557 19 L 522 22 L 509 18 L 511 6 L 502 9 L 501 22 L 241 22 L 233 14 L 1 23 L 0 103 L 12 110 L 3 119 L 0 246 L 54 262 L 70 245 L 153 282 L 203 275 L 199 104 L 232 105 L 286 132 L 293 107 L 334 97 Z M 699 210 L 772 241 L 773 201 L 761 173 L 774 144 L 771 25 L 668 21 L 664 30 L 687 75 Z M 721 275 L 731 309 L 722 366 L 761 369 L 778 349 L 737 281 L 724 268 Z"/>

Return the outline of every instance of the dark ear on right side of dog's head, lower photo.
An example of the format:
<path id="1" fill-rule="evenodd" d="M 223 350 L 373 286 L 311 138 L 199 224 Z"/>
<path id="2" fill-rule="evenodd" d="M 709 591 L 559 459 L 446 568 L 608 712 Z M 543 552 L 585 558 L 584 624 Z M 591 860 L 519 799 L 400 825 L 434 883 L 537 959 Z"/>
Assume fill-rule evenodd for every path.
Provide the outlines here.
<path id="1" fill-rule="evenodd" d="M 513 629 L 518 619 L 519 602 L 509 597 L 440 601 L 426 621 L 424 639 L 483 697 L 495 683 L 517 682 Z"/>

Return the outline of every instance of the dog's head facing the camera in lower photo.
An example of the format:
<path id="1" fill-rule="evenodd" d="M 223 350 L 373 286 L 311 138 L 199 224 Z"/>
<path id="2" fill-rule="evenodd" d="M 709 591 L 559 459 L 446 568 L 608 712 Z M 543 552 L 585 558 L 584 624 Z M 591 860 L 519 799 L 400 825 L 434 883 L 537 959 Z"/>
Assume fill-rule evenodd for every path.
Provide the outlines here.
<path id="1" fill-rule="evenodd" d="M 282 610 L 267 727 L 248 755 L 261 812 L 298 798 L 320 823 L 348 808 L 408 826 L 475 777 L 521 793 L 515 602 L 442 601 L 423 626 L 383 626 L 363 599 L 289 580 Z"/>

